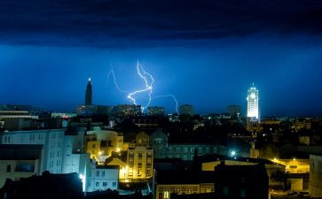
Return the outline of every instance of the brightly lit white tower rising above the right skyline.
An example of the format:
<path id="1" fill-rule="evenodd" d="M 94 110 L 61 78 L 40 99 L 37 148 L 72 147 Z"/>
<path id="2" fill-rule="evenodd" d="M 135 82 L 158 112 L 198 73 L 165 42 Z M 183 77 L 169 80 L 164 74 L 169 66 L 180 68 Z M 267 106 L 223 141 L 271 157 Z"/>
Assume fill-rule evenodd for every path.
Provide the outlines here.
<path id="1" fill-rule="evenodd" d="M 254 83 L 247 92 L 247 117 L 252 119 L 259 119 L 259 110 L 258 110 L 258 90 L 255 88 Z"/>

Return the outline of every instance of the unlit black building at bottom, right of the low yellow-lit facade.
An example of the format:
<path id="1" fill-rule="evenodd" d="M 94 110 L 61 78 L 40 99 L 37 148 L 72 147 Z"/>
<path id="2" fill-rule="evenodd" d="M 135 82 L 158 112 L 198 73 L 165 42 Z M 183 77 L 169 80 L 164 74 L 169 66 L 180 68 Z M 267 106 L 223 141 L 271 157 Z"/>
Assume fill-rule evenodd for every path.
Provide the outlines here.
<path id="1" fill-rule="evenodd" d="M 215 198 L 269 198 L 269 179 L 263 165 L 217 165 L 215 184 Z"/>

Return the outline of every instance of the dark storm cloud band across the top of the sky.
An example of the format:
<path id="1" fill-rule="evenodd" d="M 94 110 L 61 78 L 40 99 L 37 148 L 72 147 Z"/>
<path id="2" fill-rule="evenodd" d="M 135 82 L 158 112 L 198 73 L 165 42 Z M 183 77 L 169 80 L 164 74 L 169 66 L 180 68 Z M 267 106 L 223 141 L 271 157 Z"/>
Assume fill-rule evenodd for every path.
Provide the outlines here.
<path id="1" fill-rule="evenodd" d="M 1 0 L 0 42 L 160 45 L 268 31 L 321 34 L 317 0 Z"/>

